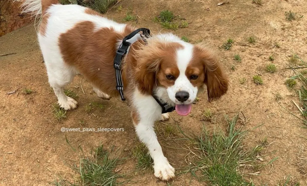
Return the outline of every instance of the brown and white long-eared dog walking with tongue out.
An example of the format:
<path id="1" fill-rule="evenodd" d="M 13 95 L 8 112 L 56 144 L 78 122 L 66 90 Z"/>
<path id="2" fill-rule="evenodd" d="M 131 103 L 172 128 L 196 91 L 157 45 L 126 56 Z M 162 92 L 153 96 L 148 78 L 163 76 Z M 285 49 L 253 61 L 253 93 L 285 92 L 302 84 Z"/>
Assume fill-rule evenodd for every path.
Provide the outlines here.
<path id="1" fill-rule="evenodd" d="M 24 12 L 41 15 L 39 45 L 60 107 L 77 107 L 64 94 L 64 86 L 78 73 L 91 82 L 99 97 L 119 97 L 113 61 L 122 39 L 134 27 L 83 6 L 59 5 L 58 0 L 24 0 L 23 5 Z M 227 92 L 228 79 L 218 57 L 201 44 L 186 43 L 170 33 L 157 34 L 130 46 L 122 61 L 122 81 L 138 138 L 153 158 L 154 175 L 172 179 L 175 169 L 163 155 L 153 129 L 155 121 L 168 115 L 161 115 L 153 95 L 184 116 L 204 87 L 209 101 L 219 99 Z"/>

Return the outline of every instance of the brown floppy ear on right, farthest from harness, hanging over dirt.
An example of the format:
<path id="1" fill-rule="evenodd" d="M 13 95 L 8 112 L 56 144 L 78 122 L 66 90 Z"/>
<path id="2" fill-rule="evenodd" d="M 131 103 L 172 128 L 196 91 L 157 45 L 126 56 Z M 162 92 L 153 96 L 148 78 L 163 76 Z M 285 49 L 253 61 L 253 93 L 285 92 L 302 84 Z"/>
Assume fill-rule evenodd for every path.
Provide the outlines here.
<path id="1" fill-rule="evenodd" d="M 219 99 L 228 90 L 227 75 L 219 58 L 211 49 L 202 45 L 196 45 L 195 48 L 204 64 L 204 83 L 207 85 L 208 101 Z"/>

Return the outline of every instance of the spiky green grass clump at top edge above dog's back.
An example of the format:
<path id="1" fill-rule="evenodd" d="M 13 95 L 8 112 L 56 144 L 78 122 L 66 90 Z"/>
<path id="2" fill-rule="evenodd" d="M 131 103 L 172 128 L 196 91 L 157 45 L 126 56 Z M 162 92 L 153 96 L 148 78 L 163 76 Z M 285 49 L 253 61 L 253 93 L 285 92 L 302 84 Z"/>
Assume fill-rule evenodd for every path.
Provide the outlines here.
<path id="1" fill-rule="evenodd" d="M 84 3 L 84 5 L 99 13 L 105 14 L 116 2 L 117 0 L 92 0 Z"/>

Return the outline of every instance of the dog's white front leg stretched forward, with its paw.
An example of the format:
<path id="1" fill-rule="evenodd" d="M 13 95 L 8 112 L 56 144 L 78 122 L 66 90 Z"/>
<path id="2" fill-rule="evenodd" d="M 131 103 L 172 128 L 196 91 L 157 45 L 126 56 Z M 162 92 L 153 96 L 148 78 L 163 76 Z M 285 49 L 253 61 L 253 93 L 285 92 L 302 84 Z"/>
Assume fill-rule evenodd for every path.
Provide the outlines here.
<path id="1" fill-rule="evenodd" d="M 154 121 L 151 121 L 150 118 L 140 119 L 135 124 L 135 130 L 138 138 L 146 145 L 153 159 L 154 175 L 161 180 L 171 180 L 175 177 L 175 169 L 169 165 L 167 158 L 164 157 L 153 125 Z"/>

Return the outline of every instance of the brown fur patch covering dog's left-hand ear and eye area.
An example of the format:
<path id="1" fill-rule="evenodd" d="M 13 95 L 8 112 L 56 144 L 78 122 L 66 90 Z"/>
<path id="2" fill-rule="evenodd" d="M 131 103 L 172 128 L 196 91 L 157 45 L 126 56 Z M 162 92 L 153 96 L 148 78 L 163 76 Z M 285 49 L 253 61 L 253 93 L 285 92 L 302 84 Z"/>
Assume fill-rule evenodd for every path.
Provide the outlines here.
<path id="1" fill-rule="evenodd" d="M 161 43 L 150 41 L 148 45 L 136 51 L 138 68 L 135 78 L 138 88 L 143 94 L 152 94 L 154 85 L 169 87 L 174 80 L 166 79 L 167 73 L 172 73 L 176 78 L 179 76 L 179 69 L 176 62 L 176 50 L 183 48 L 175 42 Z"/>

